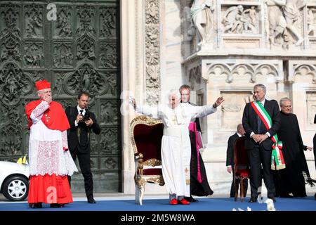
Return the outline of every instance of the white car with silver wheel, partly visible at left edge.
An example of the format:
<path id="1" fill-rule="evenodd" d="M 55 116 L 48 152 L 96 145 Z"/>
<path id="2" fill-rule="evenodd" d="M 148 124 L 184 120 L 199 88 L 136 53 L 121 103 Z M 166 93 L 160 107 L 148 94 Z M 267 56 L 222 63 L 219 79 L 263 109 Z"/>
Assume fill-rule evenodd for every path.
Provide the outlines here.
<path id="1" fill-rule="evenodd" d="M 0 187 L 0 193 L 8 200 L 25 200 L 29 192 L 29 166 L 15 162 L 0 162 Z"/>

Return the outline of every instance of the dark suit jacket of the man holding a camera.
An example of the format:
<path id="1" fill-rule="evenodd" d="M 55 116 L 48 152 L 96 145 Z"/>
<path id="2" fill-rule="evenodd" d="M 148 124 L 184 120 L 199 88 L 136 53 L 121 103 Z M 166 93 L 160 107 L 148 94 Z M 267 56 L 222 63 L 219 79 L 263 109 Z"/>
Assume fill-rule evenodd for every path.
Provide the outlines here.
<path id="1" fill-rule="evenodd" d="M 75 126 L 74 121 L 77 119 L 78 115 L 77 106 L 67 107 L 65 112 L 70 123 L 70 129 L 67 130 L 69 150 L 73 152 L 76 148 L 78 148 L 78 151 L 80 153 L 89 153 L 91 149 L 88 133 L 90 133 L 91 130 L 95 134 L 100 134 L 101 132 L 100 126 L 96 121 L 96 115 L 94 115 L 94 113 L 91 113 L 88 109 L 86 109 L 86 112 L 90 114 L 91 120 L 93 120 L 92 127 L 87 127 L 84 122 L 79 122 L 78 126 Z M 80 143 L 78 140 L 79 128 L 81 129 Z"/>

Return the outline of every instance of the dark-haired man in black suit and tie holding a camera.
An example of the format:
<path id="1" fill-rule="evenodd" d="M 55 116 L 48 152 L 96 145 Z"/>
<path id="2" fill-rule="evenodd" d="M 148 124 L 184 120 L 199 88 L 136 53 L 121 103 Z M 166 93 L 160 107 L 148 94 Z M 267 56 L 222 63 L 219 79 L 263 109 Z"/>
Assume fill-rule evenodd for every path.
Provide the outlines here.
<path id="1" fill-rule="evenodd" d="M 78 98 L 76 107 L 67 107 L 65 112 L 70 123 L 67 130 L 68 146 L 73 160 L 78 157 L 79 166 L 84 176 L 84 188 L 88 203 L 96 203 L 93 198 L 93 179 L 90 163 L 90 134 L 100 134 L 101 129 L 96 121 L 96 115 L 87 109 L 89 95 L 82 91 Z M 71 182 L 70 176 L 68 177 Z"/>

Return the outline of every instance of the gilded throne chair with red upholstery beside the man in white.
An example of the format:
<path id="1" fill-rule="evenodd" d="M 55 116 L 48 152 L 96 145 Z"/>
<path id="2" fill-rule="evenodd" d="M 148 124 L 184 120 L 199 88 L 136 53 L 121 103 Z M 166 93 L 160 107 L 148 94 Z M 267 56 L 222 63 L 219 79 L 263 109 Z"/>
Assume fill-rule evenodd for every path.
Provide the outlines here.
<path id="1" fill-rule="evenodd" d="M 164 185 L 162 177 L 162 135 L 164 125 L 144 115 L 131 122 L 131 143 L 135 156 L 135 198 L 143 205 L 145 183 Z"/>

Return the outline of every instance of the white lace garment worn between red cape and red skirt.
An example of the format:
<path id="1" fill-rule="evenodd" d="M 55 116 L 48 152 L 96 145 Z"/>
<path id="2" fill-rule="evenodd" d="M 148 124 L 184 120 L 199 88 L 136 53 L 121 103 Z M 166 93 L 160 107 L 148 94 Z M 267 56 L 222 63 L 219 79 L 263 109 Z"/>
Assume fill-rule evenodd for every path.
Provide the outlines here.
<path id="1" fill-rule="evenodd" d="M 68 148 L 67 131 L 48 129 L 41 117 L 48 109 L 45 101 L 31 114 L 32 127 L 29 132 L 29 174 L 72 175 L 78 172 Z"/>

